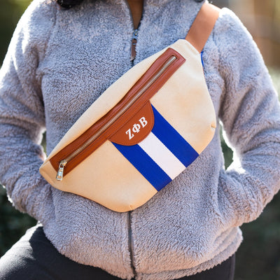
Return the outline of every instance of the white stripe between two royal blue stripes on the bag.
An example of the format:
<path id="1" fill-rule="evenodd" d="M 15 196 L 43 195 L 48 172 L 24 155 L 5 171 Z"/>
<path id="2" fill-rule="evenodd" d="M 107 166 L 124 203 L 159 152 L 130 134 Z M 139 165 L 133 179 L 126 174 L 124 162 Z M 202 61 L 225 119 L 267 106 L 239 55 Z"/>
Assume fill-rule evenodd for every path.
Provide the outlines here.
<path id="1" fill-rule="evenodd" d="M 138 145 L 172 180 L 186 169 L 180 160 L 152 132 Z"/>

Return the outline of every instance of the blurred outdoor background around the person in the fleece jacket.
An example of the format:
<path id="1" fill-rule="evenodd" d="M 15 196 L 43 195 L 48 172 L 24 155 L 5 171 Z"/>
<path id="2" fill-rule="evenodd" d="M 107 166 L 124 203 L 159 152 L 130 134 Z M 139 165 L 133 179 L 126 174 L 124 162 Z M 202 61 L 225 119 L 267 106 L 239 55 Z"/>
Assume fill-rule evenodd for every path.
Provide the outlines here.
<path id="1" fill-rule="evenodd" d="M 0 0 L 0 64 L 10 37 L 29 0 Z M 239 15 L 251 31 L 269 67 L 276 90 L 280 92 L 280 0 L 216 0 Z M 225 142 L 225 165 L 232 151 Z M 0 256 L 36 221 L 13 209 L 0 185 Z M 280 279 L 280 193 L 268 204 L 260 218 L 242 225 L 244 242 L 237 251 L 235 280 Z"/>

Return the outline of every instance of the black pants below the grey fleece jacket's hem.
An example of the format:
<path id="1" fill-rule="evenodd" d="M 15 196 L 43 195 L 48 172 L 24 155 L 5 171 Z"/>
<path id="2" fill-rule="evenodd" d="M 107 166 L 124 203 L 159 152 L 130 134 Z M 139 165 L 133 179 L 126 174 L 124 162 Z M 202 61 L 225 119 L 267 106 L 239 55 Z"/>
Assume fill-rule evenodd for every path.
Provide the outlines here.
<path id="1" fill-rule="evenodd" d="M 181 280 L 233 280 L 235 255 L 221 265 Z M 34 227 L 0 259 L 0 280 L 120 280 L 104 270 L 80 265 L 61 255 Z"/>

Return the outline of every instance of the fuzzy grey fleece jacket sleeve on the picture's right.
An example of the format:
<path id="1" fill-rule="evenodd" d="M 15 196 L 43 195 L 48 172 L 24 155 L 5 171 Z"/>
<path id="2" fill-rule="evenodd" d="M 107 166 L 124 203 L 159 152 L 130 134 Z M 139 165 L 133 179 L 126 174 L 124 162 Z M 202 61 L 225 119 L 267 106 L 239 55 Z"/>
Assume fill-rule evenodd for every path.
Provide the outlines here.
<path id="1" fill-rule="evenodd" d="M 258 218 L 280 188 L 280 109 L 251 35 L 227 9 L 219 21 L 214 34 L 224 80 L 219 117 L 234 160 L 221 171 L 218 196 L 227 221 L 241 225 Z"/>

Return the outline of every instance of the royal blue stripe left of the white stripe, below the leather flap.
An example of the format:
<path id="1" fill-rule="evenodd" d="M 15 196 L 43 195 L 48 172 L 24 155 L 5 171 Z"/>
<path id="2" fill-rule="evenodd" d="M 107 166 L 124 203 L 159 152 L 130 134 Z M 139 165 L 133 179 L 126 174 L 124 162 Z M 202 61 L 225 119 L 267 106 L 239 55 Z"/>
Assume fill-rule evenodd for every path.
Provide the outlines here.
<path id="1" fill-rule="evenodd" d="M 148 156 L 138 145 L 123 146 L 113 143 L 118 151 L 153 185 L 156 190 L 161 190 L 172 179 Z"/>

